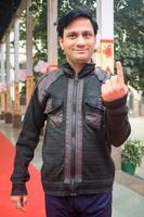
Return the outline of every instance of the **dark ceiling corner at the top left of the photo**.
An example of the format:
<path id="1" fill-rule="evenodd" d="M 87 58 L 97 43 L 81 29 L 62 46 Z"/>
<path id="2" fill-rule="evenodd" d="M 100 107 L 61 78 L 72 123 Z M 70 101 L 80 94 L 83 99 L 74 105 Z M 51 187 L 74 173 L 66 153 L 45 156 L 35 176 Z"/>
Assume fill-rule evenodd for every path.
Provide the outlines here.
<path id="1" fill-rule="evenodd" d="M 0 0 L 0 41 L 22 0 Z"/>

